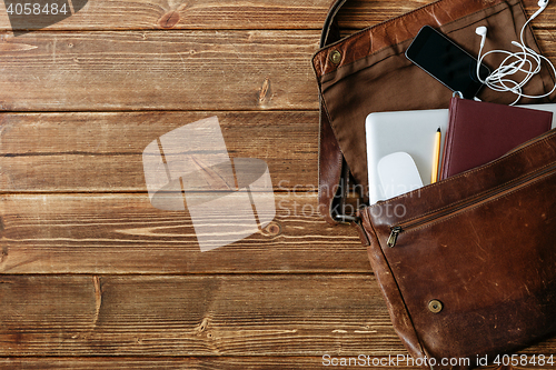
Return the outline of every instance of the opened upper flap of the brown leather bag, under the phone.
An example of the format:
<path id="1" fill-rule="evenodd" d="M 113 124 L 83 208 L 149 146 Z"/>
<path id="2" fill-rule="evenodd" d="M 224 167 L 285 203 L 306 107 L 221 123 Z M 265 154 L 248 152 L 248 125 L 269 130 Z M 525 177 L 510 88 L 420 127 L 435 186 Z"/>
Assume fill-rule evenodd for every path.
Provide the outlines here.
<path id="1" fill-rule="evenodd" d="M 341 172 L 339 149 L 358 187 L 367 189 L 364 132 L 369 113 L 448 108 L 451 91 L 405 57 L 405 50 L 423 26 L 438 28 L 476 56 L 480 43 L 480 37 L 475 33 L 476 27 L 488 26 L 485 51 L 517 51 L 510 42 L 519 39 L 525 21 L 526 14 L 519 0 L 440 0 L 319 50 L 314 57 L 314 68 L 320 93 L 321 130 L 325 127 L 334 133 L 321 133 L 319 187 L 337 187 Z M 526 29 L 525 40 L 532 49 L 539 50 L 530 28 Z M 336 56 L 339 60 L 335 60 L 339 61 L 338 64 L 332 62 L 332 53 L 336 52 L 339 52 L 339 57 Z M 494 70 L 493 67 L 498 66 L 503 58 L 493 56 L 486 58 L 485 63 Z M 549 91 L 550 87 L 552 76 L 544 69 L 524 90 L 525 93 L 536 94 Z M 555 97 L 556 93 L 544 100 L 523 99 L 520 103 L 547 102 Z M 499 103 L 509 103 L 515 99 L 510 93 L 487 89 L 481 90 L 479 98 Z M 337 143 L 330 144 L 329 140 Z M 327 153 L 330 147 L 336 148 L 334 154 Z M 326 214 L 330 208 L 326 202 L 332 198 L 320 193 L 319 198 L 320 210 Z"/>

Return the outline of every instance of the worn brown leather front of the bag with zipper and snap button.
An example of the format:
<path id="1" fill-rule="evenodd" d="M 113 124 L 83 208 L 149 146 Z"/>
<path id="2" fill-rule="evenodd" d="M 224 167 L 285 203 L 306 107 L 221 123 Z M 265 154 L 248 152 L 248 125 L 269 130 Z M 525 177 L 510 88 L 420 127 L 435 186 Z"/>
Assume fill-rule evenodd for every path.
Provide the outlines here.
<path id="1" fill-rule="evenodd" d="M 555 193 L 552 130 L 361 211 L 373 270 L 414 357 L 469 358 L 469 366 L 434 367 L 467 369 L 477 356 L 494 358 L 556 331 Z"/>

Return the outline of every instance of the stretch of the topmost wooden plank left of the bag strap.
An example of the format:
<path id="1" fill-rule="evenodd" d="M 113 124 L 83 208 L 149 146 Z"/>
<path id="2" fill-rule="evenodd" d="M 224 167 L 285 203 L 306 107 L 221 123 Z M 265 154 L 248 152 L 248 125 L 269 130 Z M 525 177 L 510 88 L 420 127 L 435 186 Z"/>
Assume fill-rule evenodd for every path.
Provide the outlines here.
<path id="1" fill-rule="evenodd" d="M 411 2 L 411 1 L 408 1 Z M 137 29 L 318 29 L 329 1 L 306 0 L 135 0 L 89 1 L 85 8 L 47 30 Z M 3 2 L 0 30 L 11 31 Z M 22 20 L 17 29 L 37 30 L 37 20 Z"/>

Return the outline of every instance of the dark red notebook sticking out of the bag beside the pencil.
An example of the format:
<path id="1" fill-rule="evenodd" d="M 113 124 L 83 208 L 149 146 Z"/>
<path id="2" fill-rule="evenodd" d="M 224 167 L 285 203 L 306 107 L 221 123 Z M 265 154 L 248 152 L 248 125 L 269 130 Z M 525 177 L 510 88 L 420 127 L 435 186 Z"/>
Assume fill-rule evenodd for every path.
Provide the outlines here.
<path id="1" fill-rule="evenodd" d="M 453 98 L 440 180 L 488 163 L 550 129 L 553 113 Z"/>

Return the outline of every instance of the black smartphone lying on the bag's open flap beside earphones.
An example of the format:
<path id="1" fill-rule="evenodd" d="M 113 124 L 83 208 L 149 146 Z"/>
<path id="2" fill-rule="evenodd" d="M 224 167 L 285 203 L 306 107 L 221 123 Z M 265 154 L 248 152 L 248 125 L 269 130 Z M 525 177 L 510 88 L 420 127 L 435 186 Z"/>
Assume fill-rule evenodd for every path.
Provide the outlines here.
<path id="1" fill-rule="evenodd" d="M 406 50 L 406 57 L 466 99 L 473 99 L 483 87 L 477 79 L 477 59 L 429 26 L 420 29 Z M 479 73 L 484 80 L 490 71 L 480 64 Z"/>

